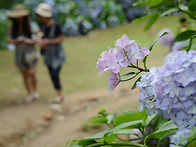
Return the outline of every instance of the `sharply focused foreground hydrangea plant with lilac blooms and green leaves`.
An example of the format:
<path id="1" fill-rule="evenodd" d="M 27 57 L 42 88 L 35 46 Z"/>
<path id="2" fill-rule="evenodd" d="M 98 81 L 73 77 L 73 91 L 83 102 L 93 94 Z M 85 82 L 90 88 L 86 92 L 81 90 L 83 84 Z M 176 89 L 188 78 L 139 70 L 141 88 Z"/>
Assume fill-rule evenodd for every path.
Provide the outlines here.
<path id="1" fill-rule="evenodd" d="M 143 0 L 136 5 L 147 5 L 149 15 L 135 22 L 148 19 L 144 30 L 148 30 L 158 18 L 181 12 L 195 20 L 196 0 Z M 152 51 L 159 35 L 150 47 L 141 48 L 134 40 L 123 35 L 114 48 L 104 51 L 98 59 L 99 74 L 110 70 L 108 90 L 112 92 L 120 82 L 138 78 L 133 86 L 140 87 L 139 112 L 108 114 L 105 110 L 94 117 L 94 123 L 105 123 L 109 129 L 91 137 L 74 140 L 71 147 L 96 146 L 195 146 L 196 129 L 196 51 L 192 47 L 194 30 L 185 30 L 172 37 L 175 41 L 190 40 L 184 51 L 171 52 L 161 67 L 147 68 L 148 54 Z M 172 42 L 173 42 L 172 41 Z M 171 45 L 171 43 L 169 43 Z M 182 48 L 181 48 L 182 49 Z M 138 60 L 143 61 L 143 67 Z M 130 72 L 120 75 L 122 67 Z M 133 69 L 136 69 L 135 72 Z M 140 75 L 140 73 L 144 74 Z M 130 76 L 125 80 L 122 77 Z M 111 116 L 111 117 L 108 117 Z M 108 119 L 110 118 L 110 119 Z M 111 121 L 112 120 L 112 121 Z M 123 134 L 123 136 L 122 136 Z M 132 136 L 136 136 L 132 138 Z M 74 145 L 75 144 L 75 145 Z"/>

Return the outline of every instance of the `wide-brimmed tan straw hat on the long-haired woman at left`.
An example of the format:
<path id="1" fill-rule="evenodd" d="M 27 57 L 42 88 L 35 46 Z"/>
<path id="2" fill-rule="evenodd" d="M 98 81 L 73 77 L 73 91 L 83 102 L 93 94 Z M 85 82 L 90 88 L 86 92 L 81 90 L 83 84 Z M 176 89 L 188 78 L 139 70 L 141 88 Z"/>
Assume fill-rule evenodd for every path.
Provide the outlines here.
<path id="1" fill-rule="evenodd" d="M 30 12 L 26 10 L 22 4 L 16 4 L 12 11 L 7 14 L 9 18 L 19 18 L 30 15 Z"/>

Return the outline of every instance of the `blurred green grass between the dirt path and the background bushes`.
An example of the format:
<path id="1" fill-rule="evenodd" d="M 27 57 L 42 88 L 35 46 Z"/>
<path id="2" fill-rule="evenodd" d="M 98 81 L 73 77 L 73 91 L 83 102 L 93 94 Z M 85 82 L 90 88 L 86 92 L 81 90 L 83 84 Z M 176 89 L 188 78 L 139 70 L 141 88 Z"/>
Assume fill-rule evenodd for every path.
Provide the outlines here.
<path id="1" fill-rule="evenodd" d="M 108 50 L 108 46 L 114 47 L 117 39 L 127 34 L 130 39 L 136 40 L 142 47 L 148 47 L 155 39 L 157 32 L 169 27 L 174 32 L 178 26 L 179 16 L 160 19 L 148 32 L 143 32 L 145 22 L 126 24 L 106 30 L 94 30 L 88 36 L 65 37 L 67 63 L 61 71 L 61 81 L 65 95 L 73 92 L 89 91 L 105 88 L 109 72 L 98 76 L 96 68 L 100 53 Z M 150 55 L 148 67 L 159 66 L 169 49 L 158 43 Z M 14 52 L 0 52 L 0 107 L 10 101 L 22 100 L 26 97 L 21 74 L 14 64 Z M 55 95 L 48 71 L 40 58 L 38 68 L 38 91 L 42 98 L 50 98 Z"/>

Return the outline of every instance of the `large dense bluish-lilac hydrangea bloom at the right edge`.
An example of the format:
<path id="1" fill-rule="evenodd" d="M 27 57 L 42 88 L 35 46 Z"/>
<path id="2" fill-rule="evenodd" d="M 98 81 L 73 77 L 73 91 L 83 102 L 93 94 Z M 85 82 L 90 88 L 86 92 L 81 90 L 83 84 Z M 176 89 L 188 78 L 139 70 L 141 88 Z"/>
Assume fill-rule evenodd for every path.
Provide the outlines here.
<path id="1" fill-rule="evenodd" d="M 138 83 L 140 93 L 144 94 L 140 98 L 140 104 L 148 111 L 157 110 L 165 118 L 170 118 L 180 130 L 188 125 L 196 126 L 195 55 L 196 51 L 193 50 L 188 53 L 172 52 L 157 73 L 146 73 L 151 77 L 142 76 Z M 147 79 L 150 84 L 145 85 L 142 81 Z M 153 100 L 152 104 L 147 104 L 149 99 L 150 102 Z"/>

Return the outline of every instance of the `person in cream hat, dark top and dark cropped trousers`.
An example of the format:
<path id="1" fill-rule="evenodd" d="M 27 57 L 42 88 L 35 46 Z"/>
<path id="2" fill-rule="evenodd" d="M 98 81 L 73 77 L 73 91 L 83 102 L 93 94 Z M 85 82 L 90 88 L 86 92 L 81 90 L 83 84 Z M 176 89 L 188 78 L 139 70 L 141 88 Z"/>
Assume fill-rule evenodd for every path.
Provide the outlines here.
<path id="1" fill-rule="evenodd" d="M 40 20 L 40 28 L 43 37 L 39 44 L 43 51 L 44 62 L 48 68 L 54 88 L 57 91 L 57 97 L 52 102 L 60 103 L 64 100 L 62 85 L 59 74 L 62 64 L 65 62 L 65 53 L 62 46 L 63 32 L 60 25 L 52 18 L 52 8 L 46 3 L 40 3 L 35 13 Z"/>

